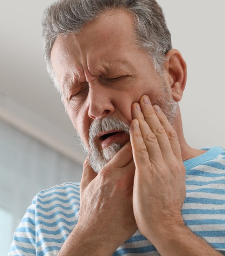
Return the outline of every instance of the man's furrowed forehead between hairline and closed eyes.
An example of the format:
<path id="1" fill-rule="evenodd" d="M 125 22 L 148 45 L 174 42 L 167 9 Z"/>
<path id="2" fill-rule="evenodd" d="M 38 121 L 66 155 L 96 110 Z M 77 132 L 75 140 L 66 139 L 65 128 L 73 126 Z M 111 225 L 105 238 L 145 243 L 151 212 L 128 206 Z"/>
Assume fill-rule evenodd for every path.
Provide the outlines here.
<path id="1" fill-rule="evenodd" d="M 133 19 L 128 11 L 110 10 L 79 33 L 59 35 L 51 55 L 59 84 L 89 82 L 88 76 L 128 75 L 138 72 L 143 62 L 149 64 L 146 51 L 135 42 Z"/>

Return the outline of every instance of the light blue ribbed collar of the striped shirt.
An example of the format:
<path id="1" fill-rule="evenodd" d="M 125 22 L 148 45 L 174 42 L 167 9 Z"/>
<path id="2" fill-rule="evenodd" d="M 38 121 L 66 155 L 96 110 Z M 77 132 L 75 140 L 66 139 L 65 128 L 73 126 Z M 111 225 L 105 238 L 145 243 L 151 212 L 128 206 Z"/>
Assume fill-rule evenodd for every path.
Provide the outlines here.
<path id="1" fill-rule="evenodd" d="M 208 150 L 208 151 L 206 153 L 201 154 L 201 156 L 194 157 L 184 161 L 186 171 L 194 168 L 195 166 L 201 165 L 206 161 L 212 160 L 213 158 L 221 154 L 224 149 L 222 149 L 222 147 L 216 146 L 212 148 L 207 147 L 206 149 L 202 149 L 202 150 Z"/>

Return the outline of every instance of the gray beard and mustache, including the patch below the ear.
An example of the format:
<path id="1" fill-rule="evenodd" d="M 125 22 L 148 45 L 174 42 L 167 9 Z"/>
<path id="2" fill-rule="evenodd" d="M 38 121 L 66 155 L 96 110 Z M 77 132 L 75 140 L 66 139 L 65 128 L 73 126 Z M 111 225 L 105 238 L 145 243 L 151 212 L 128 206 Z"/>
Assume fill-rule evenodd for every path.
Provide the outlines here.
<path id="1" fill-rule="evenodd" d="M 163 97 L 161 97 L 157 104 L 163 110 L 168 122 L 172 125 L 174 119 L 177 115 L 178 103 L 172 98 L 170 90 L 167 89 L 166 84 L 162 81 L 161 88 L 163 91 Z M 80 140 L 83 150 L 88 154 L 89 165 L 93 168 L 96 173 L 100 170 L 115 156 L 115 154 L 121 149 L 122 145 L 119 142 L 112 143 L 107 148 L 98 149 L 95 144 L 95 139 L 97 134 L 100 132 L 108 132 L 111 130 L 119 130 L 129 133 L 129 125 L 125 124 L 123 121 L 115 117 L 103 117 L 101 119 L 96 119 L 90 125 L 89 129 L 89 149 L 81 140 L 80 134 L 78 133 L 78 138 Z"/>

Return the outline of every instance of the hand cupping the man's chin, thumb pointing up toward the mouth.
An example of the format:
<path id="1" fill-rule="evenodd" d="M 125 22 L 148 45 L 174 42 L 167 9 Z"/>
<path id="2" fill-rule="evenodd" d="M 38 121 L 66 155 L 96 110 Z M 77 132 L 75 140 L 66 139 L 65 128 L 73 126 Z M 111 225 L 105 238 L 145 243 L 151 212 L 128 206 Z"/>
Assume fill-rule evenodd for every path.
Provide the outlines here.
<path id="1" fill-rule="evenodd" d="M 135 164 L 130 142 L 96 174 L 87 163 L 81 179 L 81 207 L 76 231 L 111 254 L 137 230 L 132 191 Z M 79 254 L 81 255 L 81 254 Z M 100 255 L 100 254 L 98 254 Z M 104 254 L 106 255 L 106 254 Z"/>

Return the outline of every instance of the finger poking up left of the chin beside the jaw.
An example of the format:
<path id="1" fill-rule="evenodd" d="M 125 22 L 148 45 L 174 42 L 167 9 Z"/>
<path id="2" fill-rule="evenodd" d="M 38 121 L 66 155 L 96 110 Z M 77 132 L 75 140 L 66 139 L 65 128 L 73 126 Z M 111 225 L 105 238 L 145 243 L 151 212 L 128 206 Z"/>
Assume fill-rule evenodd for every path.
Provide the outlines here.
<path id="1" fill-rule="evenodd" d="M 80 190 L 81 193 L 85 190 L 85 188 L 90 184 L 90 182 L 97 176 L 97 173 L 90 167 L 88 163 L 88 158 L 86 158 L 83 163 L 83 173 L 81 177 Z"/>

